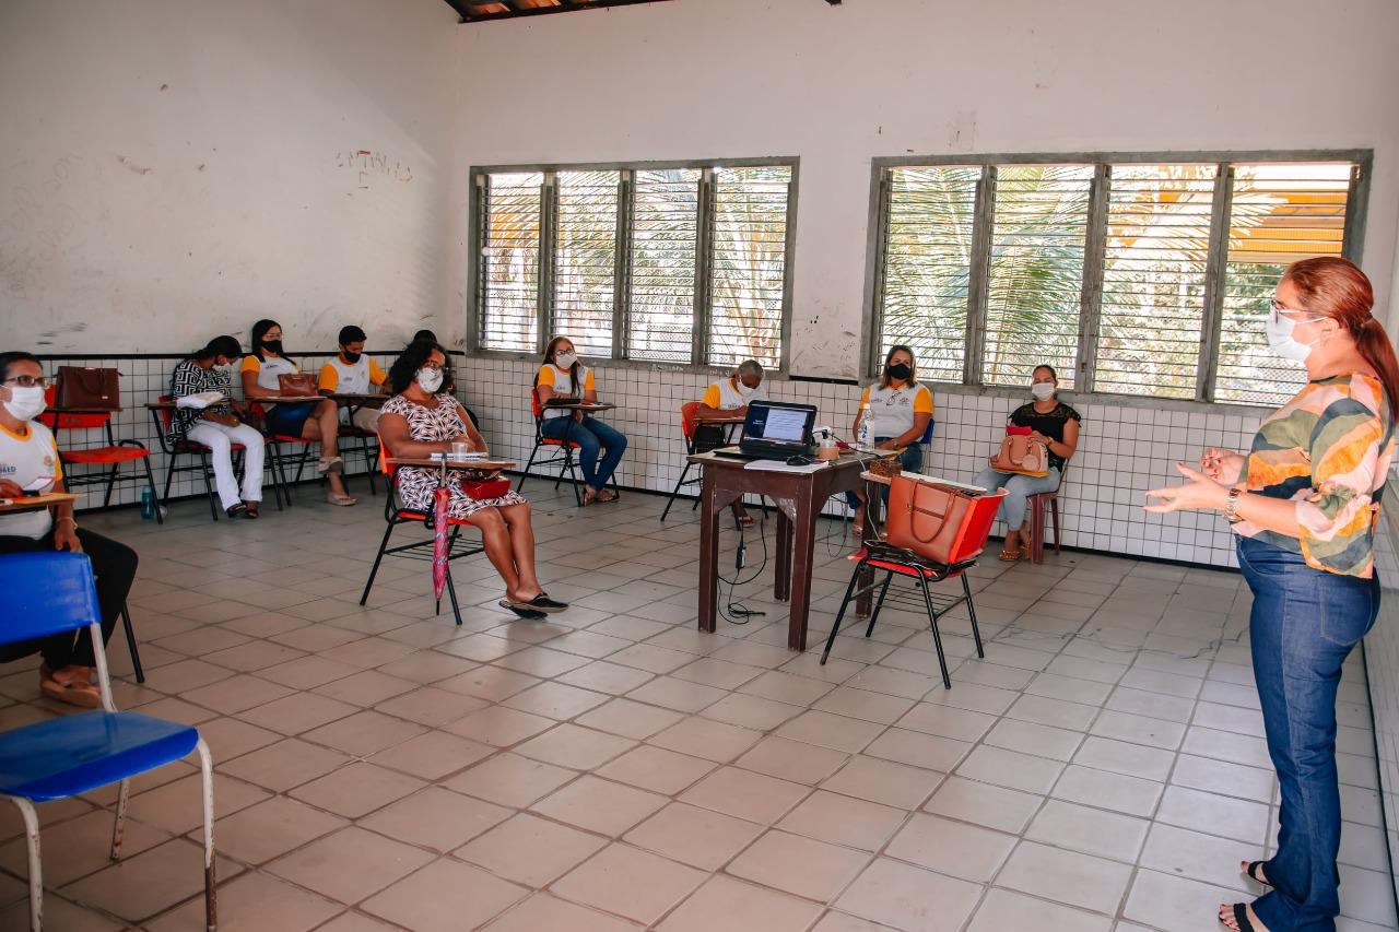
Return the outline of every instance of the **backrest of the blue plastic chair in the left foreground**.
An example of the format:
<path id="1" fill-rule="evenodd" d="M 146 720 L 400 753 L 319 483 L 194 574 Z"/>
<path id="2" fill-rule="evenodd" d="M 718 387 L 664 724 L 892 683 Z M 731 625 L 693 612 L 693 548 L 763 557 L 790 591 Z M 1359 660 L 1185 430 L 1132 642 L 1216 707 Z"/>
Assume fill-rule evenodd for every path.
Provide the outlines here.
<path id="1" fill-rule="evenodd" d="M 0 557 L 0 644 L 34 641 L 102 620 L 87 554 L 6 554 Z"/>

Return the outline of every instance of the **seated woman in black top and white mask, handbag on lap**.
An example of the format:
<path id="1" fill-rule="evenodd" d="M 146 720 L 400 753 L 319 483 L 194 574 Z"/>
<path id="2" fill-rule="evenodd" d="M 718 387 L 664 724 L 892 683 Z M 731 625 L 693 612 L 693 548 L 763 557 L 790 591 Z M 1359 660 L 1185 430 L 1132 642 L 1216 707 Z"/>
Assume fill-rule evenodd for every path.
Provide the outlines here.
<path id="1" fill-rule="evenodd" d="M 1052 365 L 1037 365 L 1031 374 L 1030 393 L 1035 400 L 1021 404 L 1010 413 L 1010 424 L 1028 427 L 1030 437 L 1045 445 L 1049 452 L 1048 476 L 1021 476 L 1000 473 L 988 466 L 981 470 L 974 486 L 989 491 L 1006 490 L 1000 501 L 999 516 L 1006 522 L 1006 546 L 1000 558 L 1007 563 L 1030 557 L 1030 522 L 1025 515 L 1030 495 L 1059 488 L 1065 463 L 1079 448 L 1079 411 L 1059 400 L 1059 375 Z"/>

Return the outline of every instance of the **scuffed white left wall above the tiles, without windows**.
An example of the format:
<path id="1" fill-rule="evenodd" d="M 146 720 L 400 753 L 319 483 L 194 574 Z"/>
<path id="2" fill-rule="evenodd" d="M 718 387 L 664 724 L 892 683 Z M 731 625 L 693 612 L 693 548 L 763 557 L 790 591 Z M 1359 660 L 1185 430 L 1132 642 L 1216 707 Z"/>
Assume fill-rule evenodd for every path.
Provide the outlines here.
<path id="1" fill-rule="evenodd" d="M 0 3 L 0 347 L 434 325 L 455 22 L 441 0 Z"/>

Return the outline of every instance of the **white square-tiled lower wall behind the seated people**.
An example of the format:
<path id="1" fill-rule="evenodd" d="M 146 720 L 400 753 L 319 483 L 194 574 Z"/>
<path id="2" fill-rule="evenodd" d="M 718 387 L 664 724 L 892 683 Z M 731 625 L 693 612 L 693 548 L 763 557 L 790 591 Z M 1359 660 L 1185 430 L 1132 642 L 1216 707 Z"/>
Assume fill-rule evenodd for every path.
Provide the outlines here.
<path id="1" fill-rule="evenodd" d="M 374 353 L 388 368 L 390 354 Z M 297 357 L 304 371 L 319 372 L 327 357 Z M 152 451 L 157 483 L 164 481 L 165 458 L 159 452 L 155 427 L 145 410 L 168 390 L 169 374 L 179 357 L 102 361 L 99 358 L 52 358 L 46 367 L 115 365 L 122 372 L 125 410 L 116 417 L 118 438 L 139 439 Z M 529 458 L 534 425 L 529 410 L 529 388 L 534 364 L 513 360 L 453 360 L 462 400 L 481 418 L 481 430 L 492 449 Z M 50 369 L 52 371 L 52 369 Z M 630 448 L 623 460 L 621 484 L 669 491 L 684 466 L 680 435 L 680 406 L 698 399 L 709 376 L 700 372 L 607 368 L 597 372 L 599 390 L 617 410 L 607 420 L 627 434 Z M 818 424 L 849 430 L 860 390 L 852 385 L 804 381 L 769 381 L 776 400 L 811 403 L 820 407 Z M 982 395 L 949 386 L 935 389 L 937 430 L 925 462 L 925 472 L 970 480 L 997 442 L 1000 425 L 1021 399 Z M 1073 403 L 1073 399 L 1069 399 Z M 1242 449 L 1252 439 L 1258 416 L 1235 413 L 1160 410 L 1087 402 L 1074 404 L 1083 414 L 1083 439 L 1074 456 L 1060 509 L 1063 543 L 1105 553 L 1158 557 L 1207 565 L 1234 565 L 1231 536 L 1216 515 L 1147 515 L 1140 505 L 1143 493 L 1178 481 L 1178 459 L 1192 460 L 1205 446 Z M 1237 409 L 1234 409 L 1237 410 Z M 62 445 L 99 442 L 98 431 L 64 431 Z M 358 465 L 354 465 L 358 467 Z M 691 488 L 690 491 L 694 491 Z M 197 477 L 178 476 L 172 497 L 201 494 Z M 140 488 L 127 486 L 115 497 L 137 501 Z M 832 509 L 835 507 L 832 505 Z"/>

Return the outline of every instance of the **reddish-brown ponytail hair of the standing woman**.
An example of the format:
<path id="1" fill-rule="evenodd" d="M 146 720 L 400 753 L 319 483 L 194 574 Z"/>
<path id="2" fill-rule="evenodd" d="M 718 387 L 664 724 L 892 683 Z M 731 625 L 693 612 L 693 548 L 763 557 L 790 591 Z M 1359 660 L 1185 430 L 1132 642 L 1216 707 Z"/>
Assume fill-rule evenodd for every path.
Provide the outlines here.
<path id="1" fill-rule="evenodd" d="M 1379 375 L 1389 400 L 1389 417 L 1399 423 L 1399 360 L 1385 327 L 1375 319 L 1375 291 L 1356 263 L 1339 256 L 1302 259 L 1287 266 L 1283 281 L 1291 281 L 1304 308 L 1323 313 L 1356 341 L 1356 350 Z"/>

